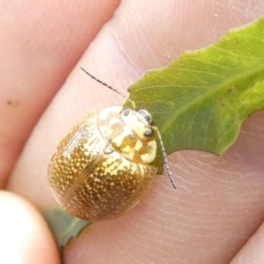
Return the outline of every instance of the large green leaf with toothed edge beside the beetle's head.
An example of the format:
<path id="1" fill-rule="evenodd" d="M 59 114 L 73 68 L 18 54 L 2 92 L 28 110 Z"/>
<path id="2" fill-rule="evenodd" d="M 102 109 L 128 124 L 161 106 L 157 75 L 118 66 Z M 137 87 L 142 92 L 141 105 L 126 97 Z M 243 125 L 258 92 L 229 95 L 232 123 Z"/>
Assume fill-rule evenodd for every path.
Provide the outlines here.
<path id="1" fill-rule="evenodd" d="M 129 90 L 136 107 L 153 114 L 167 154 L 222 154 L 242 122 L 264 108 L 264 18 L 147 73 Z"/>

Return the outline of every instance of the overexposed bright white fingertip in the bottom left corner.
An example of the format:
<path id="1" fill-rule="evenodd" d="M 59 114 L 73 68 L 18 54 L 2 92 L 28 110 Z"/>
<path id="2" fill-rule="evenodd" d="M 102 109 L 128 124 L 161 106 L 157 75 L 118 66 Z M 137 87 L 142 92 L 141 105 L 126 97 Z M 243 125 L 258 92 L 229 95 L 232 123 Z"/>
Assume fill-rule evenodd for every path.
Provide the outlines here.
<path id="1" fill-rule="evenodd" d="M 0 191 L 0 263 L 59 263 L 53 235 L 36 208 L 14 194 Z"/>

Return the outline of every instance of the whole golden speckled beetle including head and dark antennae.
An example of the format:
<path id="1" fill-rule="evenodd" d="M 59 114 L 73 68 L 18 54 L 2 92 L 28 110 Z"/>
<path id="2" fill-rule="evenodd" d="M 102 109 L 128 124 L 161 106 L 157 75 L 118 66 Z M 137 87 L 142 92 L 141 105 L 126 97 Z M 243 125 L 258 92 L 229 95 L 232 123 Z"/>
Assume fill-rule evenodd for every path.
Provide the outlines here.
<path id="1" fill-rule="evenodd" d="M 90 221 L 110 219 L 142 199 L 157 172 L 150 165 L 156 156 L 154 131 L 175 187 L 152 116 L 131 102 L 133 108 L 90 111 L 57 146 L 48 166 L 48 180 L 61 206 L 73 216 Z"/>

